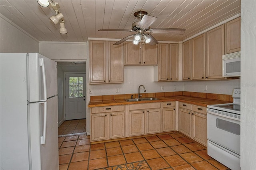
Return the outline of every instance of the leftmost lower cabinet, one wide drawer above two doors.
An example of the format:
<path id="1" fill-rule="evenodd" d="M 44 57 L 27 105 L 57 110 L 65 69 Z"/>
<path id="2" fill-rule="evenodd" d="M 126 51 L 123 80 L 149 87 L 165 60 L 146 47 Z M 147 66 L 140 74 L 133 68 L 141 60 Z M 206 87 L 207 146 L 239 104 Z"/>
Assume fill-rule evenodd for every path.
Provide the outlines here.
<path id="1" fill-rule="evenodd" d="M 91 108 L 91 141 L 125 136 L 124 106 Z"/>

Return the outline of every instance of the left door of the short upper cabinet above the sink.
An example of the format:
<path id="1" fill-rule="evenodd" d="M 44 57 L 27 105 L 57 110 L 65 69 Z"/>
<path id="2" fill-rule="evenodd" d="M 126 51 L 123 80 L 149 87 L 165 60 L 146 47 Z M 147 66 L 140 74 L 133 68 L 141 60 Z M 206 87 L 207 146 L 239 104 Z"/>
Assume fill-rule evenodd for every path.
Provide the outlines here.
<path id="1" fill-rule="evenodd" d="M 141 49 L 140 45 L 134 45 L 132 42 L 125 43 L 125 65 L 140 65 Z"/>

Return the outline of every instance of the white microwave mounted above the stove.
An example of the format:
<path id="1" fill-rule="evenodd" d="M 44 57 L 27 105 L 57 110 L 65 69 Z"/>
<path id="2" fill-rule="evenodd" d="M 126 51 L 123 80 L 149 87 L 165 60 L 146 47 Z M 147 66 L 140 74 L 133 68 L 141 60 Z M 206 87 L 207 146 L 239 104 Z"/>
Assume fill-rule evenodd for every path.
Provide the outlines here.
<path id="1" fill-rule="evenodd" d="M 240 77 L 241 72 L 240 51 L 222 55 L 222 76 Z"/>

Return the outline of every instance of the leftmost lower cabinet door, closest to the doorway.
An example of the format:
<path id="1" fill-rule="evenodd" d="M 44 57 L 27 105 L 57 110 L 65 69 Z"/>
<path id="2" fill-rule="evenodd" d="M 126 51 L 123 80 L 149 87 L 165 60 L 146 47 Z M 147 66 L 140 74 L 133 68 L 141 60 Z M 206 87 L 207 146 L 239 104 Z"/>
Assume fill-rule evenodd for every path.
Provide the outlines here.
<path id="1" fill-rule="evenodd" d="M 107 114 L 92 114 L 91 140 L 107 139 Z"/>

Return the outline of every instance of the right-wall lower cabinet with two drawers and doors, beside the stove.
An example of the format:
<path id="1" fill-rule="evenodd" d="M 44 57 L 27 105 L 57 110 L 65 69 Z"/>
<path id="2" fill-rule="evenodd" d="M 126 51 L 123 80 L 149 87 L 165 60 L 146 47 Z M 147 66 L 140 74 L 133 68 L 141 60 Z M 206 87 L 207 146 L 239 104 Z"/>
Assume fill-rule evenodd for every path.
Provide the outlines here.
<path id="1" fill-rule="evenodd" d="M 184 109 L 184 107 L 188 107 L 188 109 Z M 207 146 L 206 107 L 180 102 L 179 131 L 200 144 Z"/>

